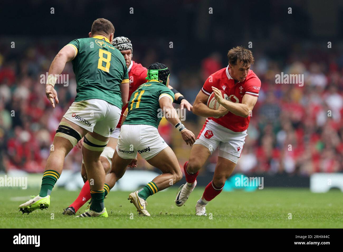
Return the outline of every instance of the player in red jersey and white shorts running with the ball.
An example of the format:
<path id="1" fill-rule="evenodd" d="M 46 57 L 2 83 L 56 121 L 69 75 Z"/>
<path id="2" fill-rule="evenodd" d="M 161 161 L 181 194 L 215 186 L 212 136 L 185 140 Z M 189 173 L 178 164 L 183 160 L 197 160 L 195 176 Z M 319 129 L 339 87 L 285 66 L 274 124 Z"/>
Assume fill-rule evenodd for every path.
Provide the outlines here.
<path id="1" fill-rule="evenodd" d="M 216 148 L 219 150 L 213 179 L 196 204 L 196 215 L 206 215 L 206 204 L 223 190 L 235 169 L 261 87 L 260 79 L 250 70 L 254 62 L 250 50 L 238 46 L 229 50 L 227 56 L 228 66 L 209 76 L 193 104 L 194 114 L 208 118 L 184 165 L 187 183 L 176 194 L 177 206 L 186 202 L 197 184 L 199 170 Z M 229 97 L 228 101 L 222 98 L 221 90 Z M 212 92 L 220 104 L 218 110 L 207 106 Z"/>

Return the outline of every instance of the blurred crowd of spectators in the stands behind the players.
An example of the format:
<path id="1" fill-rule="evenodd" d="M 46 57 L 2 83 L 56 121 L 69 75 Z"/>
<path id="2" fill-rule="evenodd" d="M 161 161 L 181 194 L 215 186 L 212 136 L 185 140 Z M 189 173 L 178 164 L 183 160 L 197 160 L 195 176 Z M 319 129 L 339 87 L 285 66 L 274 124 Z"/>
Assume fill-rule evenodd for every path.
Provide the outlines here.
<path id="1" fill-rule="evenodd" d="M 72 65 L 67 63 L 63 74 L 68 74 L 68 86 L 57 85 L 59 104 L 55 109 L 45 96 L 41 79 L 59 48 L 54 44 L 36 45 L 18 49 L 15 54 L 11 48 L 0 49 L 0 171 L 44 170 L 55 131 L 76 95 Z M 251 69 L 262 84 L 236 171 L 304 176 L 342 172 L 343 53 L 328 53 L 313 45 L 289 53 L 280 61 L 258 49 L 252 51 L 255 64 Z M 157 52 L 149 50 L 135 52 L 134 60 L 145 67 L 156 61 L 168 65 L 170 84 L 190 103 L 204 80 L 227 66 L 226 55 L 219 52 L 205 54 L 201 62 L 179 69 L 173 58 L 159 59 Z M 275 75 L 281 72 L 304 74 L 304 85 L 276 84 Z M 197 136 L 204 121 L 187 112 L 184 123 Z M 161 121 L 159 131 L 183 166 L 190 147 L 166 120 Z M 216 155 L 208 160 L 203 172 L 213 171 Z M 64 169 L 79 171 L 81 161 L 81 151 L 75 147 Z M 139 158 L 138 169 L 153 167 Z"/>

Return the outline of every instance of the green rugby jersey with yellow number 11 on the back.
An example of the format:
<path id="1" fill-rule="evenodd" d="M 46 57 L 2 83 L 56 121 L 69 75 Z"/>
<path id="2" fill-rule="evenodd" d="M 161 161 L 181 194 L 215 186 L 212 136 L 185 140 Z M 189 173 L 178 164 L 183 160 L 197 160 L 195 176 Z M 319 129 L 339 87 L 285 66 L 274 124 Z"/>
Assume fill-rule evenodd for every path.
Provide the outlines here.
<path id="1" fill-rule="evenodd" d="M 129 99 L 128 115 L 123 124 L 146 124 L 158 128 L 163 117 L 159 99 L 168 96 L 174 102 L 174 93 L 157 80 L 140 85 Z"/>

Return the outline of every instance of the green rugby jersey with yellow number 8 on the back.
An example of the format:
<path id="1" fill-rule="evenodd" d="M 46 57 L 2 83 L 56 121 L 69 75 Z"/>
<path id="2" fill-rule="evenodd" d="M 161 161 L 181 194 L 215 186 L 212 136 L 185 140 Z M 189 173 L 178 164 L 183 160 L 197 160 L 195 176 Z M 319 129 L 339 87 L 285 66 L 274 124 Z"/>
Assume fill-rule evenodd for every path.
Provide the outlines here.
<path id="1" fill-rule="evenodd" d="M 120 84 L 129 83 L 128 69 L 120 51 L 103 36 L 71 41 L 76 77 L 75 101 L 102 99 L 119 108 L 122 106 Z"/>

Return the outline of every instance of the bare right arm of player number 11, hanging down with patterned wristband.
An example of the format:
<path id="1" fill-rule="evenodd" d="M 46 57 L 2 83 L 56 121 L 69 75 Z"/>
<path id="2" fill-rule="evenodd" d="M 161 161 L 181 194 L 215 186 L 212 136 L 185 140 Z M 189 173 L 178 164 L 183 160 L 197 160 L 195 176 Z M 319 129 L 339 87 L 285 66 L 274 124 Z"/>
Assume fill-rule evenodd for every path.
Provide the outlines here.
<path id="1" fill-rule="evenodd" d="M 159 107 L 161 107 L 163 112 L 166 113 L 167 121 L 173 124 L 173 126 L 175 126 L 178 123 L 181 123 L 179 116 L 175 108 L 173 107 L 173 104 L 171 103 L 171 100 L 169 99 L 169 97 L 162 97 L 161 99 L 159 99 Z M 186 144 L 187 145 L 189 144 L 190 146 L 192 146 L 193 143 L 195 142 L 195 136 L 193 132 L 191 132 L 190 130 L 187 130 L 186 128 L 184 128 L 180 132 L 181 132 L 182 139 L 186 142 Z"/>

